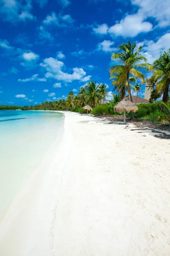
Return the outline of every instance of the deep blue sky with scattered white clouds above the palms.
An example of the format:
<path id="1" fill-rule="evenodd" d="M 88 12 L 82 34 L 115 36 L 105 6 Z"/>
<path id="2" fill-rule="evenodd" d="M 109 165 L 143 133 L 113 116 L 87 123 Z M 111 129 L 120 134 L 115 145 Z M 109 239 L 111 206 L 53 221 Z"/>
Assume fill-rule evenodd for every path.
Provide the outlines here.
<path id="1" fill-rule="evenodd" d="M 0 0 L 0 105 L 64 99 L 91 79 L 111 92 L 111 52 L 130 39 L 152 64 L 170 48 L 169 14 L 169 0 Z"/>

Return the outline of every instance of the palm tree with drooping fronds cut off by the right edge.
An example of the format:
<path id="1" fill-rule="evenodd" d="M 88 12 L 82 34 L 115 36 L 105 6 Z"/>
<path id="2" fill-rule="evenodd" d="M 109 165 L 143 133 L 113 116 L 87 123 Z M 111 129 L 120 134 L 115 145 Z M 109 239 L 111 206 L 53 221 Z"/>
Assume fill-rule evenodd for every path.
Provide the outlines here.
<path id="1" fill-rule="evenodd" d="M 159 59 L 153 62 L 153 80 L 156 84 L 156 93 L 163 93 L 162 101 L 168 102 L 170 87 L 170 49 L 160 55 Z"/>

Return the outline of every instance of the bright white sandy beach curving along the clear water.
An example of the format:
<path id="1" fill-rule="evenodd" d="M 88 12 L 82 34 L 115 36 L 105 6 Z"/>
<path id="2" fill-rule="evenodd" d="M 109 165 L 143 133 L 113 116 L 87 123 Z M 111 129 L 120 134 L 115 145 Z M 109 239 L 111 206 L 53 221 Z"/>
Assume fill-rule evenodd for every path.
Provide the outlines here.
<path id="1" fill-rule="evenodd" d="M 0 224 L 0 256 L 169 256 L 170 140 L 65 113 Z"/>

